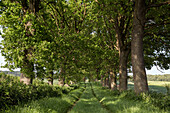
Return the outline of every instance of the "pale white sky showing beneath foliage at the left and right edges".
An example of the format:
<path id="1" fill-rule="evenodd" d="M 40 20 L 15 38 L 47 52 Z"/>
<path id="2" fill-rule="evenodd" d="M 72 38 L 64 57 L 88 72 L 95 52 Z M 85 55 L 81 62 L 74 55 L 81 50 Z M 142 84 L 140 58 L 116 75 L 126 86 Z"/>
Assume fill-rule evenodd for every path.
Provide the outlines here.
<path id="1" fill-rule="evenodd" d="M 1 30 L 1 29 L 0 29 Z M 1 30 L 2 31 L 2 30 Z M 3 39 L 2 39 L 2 37 L 0 36 L 0 43 L 1 43 L 1 41 L 2 41 Z M 5 58 L 2 56 L 2 54 L 1 54 L 1 50 L 0 50 L 0 70 L 1 71 L 7 71 L 8 69 L 7 68 L 1 68 L 1 66 L 3 66 L 5 64 Z M 159 67 L 158 67 L 159 68 Z M 15 69 L 14 71 L 19 71 L 20 69 Z M 160 68 L 159 68 L 159 70 L 161 70 Z M 164 73 L 162 73 L 162 72 L 160 72 L 157 68 L 156 68 L 156 66 L 153 66 L 152 68 L 151 68 L 151 70 L 147 70 L 146 69 L 146 74 L 148 74 L 148 75 L 163 75 L 163 74 L 170 74 L 170 69 L 169 70 L 161 70 L 162 72 L 164 72 Z"/>

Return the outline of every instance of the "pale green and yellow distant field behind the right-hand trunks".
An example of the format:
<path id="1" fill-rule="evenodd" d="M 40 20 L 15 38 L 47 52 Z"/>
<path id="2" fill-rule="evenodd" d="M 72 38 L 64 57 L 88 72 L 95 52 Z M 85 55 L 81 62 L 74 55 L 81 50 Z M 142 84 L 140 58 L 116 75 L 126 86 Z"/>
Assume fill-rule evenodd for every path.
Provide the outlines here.
<path id="1" fill-rule="evenodd" d="M 156 91 L 158 93 L 164 93 L 164 94 L 167 93 L 167 90 L 165 88 L 165 85 L 167 85 L 167 84 L 170 85 L 170 82 L 167 82 L 167 81 L 148 81 L 150 91 Z M 128 82 L 128 88 L 133 89 L 134 83 Z"/>

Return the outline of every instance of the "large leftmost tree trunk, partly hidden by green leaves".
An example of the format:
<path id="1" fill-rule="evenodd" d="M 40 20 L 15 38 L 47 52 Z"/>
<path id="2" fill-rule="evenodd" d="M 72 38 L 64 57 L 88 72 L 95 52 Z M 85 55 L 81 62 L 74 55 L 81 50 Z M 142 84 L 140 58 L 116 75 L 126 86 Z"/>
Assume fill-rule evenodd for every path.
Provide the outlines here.
<path id="1" fill-rule="evenodd" d="M 21 0 L 23 14 L 25 15 L 27 12 L 34 13 L 36 16 L 36 12 L 39 11 L 40 0 Z M 32 37 L 34 35 L 35 29 L 31 28 L 32 23 L 31 20 L 25 24 L 26 36 L 27 38 Z M 21 67 L 21 70 L 24 70 L 25 79 L 29 80 L 29 83 L 33 83 L 34 76 L 34 63 L 30 60 L 32 57 L 33 48 L 29 47 L 24 50 L 25 58 L 24 65 Z M 27 80 L 27 81 L 28 81 Z"/>

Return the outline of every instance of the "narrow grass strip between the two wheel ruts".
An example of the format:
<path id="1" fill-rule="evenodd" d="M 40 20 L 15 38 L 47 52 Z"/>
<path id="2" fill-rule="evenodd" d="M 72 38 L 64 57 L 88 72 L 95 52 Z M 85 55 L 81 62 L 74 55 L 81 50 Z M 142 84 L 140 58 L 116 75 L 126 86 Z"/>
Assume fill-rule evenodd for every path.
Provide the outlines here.
<path id="1" fill-rule="evenodd" d="M 69 113 L 109 113 L 94 96 L 90 84 Z"/>

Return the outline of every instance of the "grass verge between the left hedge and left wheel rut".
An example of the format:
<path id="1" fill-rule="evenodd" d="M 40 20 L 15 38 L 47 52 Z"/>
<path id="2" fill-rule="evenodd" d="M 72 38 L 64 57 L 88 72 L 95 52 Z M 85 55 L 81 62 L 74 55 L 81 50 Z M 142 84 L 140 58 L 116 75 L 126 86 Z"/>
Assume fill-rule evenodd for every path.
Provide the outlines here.
<path id="1" fill-rule="evenodd" d="M 84 85 L 71 91 L 68 95 L 31 101 L 27 104 L 14 106 L 2 111 L 2 113 L 67 113 L 78 100 L 83 90 Z"/>

